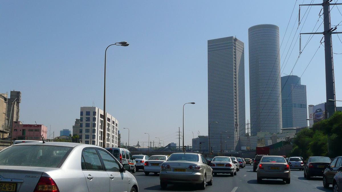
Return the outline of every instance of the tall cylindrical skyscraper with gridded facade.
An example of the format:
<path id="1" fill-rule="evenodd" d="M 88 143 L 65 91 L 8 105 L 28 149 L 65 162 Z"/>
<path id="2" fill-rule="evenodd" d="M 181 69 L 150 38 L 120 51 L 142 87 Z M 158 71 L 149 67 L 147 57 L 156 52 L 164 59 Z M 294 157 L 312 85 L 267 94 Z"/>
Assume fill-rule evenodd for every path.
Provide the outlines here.
<path id="1" fill-rule="evenodd" d="M 248 29 L 251 134 L 279 133 L 281 85 L 279 27 L 255 25 Z"/>

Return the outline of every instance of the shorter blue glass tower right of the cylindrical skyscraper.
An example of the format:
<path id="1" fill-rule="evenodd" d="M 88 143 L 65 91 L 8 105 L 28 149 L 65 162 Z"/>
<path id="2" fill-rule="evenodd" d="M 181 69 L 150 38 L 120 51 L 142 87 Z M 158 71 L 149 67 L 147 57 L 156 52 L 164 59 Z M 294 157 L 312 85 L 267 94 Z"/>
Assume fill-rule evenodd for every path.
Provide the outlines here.
<path id="1" fill-rule="evenodd" d="M 300 77 L 281 77 L 282 128 L 306 127 L 306 85 Z"/>

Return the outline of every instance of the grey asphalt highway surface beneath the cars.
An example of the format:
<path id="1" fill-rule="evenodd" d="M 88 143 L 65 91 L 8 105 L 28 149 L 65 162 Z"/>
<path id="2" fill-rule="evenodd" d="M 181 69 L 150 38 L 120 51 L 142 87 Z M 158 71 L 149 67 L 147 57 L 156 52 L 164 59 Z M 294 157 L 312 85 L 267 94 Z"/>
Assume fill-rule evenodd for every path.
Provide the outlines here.
<path id="1" fill-rule="evenodd" d="M 153 173 L 145 176 L 142 170 L 133 174 L 139 185 L 139 192 L 146 191 L 201 191 L 196 186 L 190 184 L 168 185 L 167 189 L 162 190 L 159 184 L 159 174 Z M 253 172 L 253 166 L 246 165 L 240 168 L 237 175 L 232 177 L 227 174 L 218 174 L 213 177 L 213 185 L 207 186 L 204 191 L 286 191 L 286 192 L 332 192 L 332 186 L 328 189 L 323 187 L 322 177 L 313 177 L 311 180 L 304 178 L 303 171 L 291 170 L 291 183 L 285 184 L 282 180 L 264 179 L 262 183 L 257 183 L 257 173 Z"/>

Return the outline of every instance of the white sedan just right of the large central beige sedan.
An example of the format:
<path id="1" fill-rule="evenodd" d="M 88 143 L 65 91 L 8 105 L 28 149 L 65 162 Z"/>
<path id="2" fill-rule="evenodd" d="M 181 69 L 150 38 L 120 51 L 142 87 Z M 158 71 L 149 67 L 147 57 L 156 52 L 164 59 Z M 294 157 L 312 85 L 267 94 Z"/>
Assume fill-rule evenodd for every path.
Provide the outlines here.
<path id="1" fill-rule="evenodd" d="M 211 161 L 211 168 L 214 175 L 218 173 L 231 174 L 234 177 L 236 175 L 236 165 L 232 162 L 231 158 L 226 156 L 217 156 Z"/>

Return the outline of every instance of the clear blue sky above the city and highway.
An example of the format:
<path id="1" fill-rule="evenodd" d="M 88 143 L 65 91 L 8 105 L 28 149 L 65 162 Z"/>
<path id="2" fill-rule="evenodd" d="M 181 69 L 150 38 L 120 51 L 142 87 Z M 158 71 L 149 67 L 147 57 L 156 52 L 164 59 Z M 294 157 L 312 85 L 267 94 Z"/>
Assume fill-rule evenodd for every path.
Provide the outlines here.
<path id="1" fill-rule="evenodd" d="M 193 134 L 208 134 L 207 40 L 236 36 L 245 43 L 249 119 L 248 28 L 279 26 L 281 42 L 285 35 L 281 76 L 290 74 L 299 55 L 299 31 L 323 31 L 323 25 L 318 28 L 323 21 L 318 16 L 321 6 L 303 6 L 295 32 L 298 4 L 310 2 L 0 1 L 0 92 L 22 92 L 19 120 L 25 124 L 36 121 L 48 131 L 51 125 L 55 136 L 64 128 L 71 130 L 80 107 L 94 101 L 103 109 L 105 49 L 127 41 L 128 47 L 111 46 L 107 51 L 106 110 L 118 119 L 122 141 L 128 141 L 128 131 L 122 129 L 127 127 L 130 145 L 147 141 L 144 133 L 165 144 L 178 142 L 183 104 L 196 102 L 185 106 L 188 145 Z M 341 5 L 338 8 L 342 11 Z M 331 9 L 332 25 L 342 21 L 339 10 Z M 302 75 L 321 37 L 315 35 L 308 42 L 292 74 Z M 302 35 L 302 49 L 308 39 Z M 333 35 L 333 52 L 342 53 L 341 45 Z M 341 55 L 333 56 L 336 95 L 342 100 Z M 302 84 L 307 88 L 307 105 L 325 102 L 323 46 L 304 72 Z"/>

